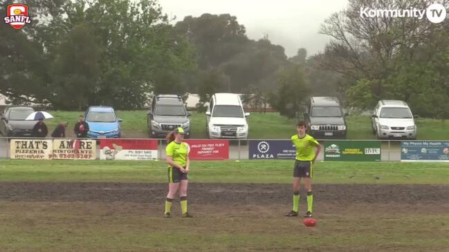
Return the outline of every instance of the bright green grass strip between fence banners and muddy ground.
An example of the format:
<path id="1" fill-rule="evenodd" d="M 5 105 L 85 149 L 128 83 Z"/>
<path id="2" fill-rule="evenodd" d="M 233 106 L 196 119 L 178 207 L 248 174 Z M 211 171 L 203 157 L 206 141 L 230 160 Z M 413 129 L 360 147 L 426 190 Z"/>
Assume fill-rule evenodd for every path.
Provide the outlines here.
<path id="1" fill-rule="evenodd" d="M 190 181 L 205 183 L 290 183 L 293 162 L 192 162 Z M 3 182 L 166 182 L 165 162 L 5 160 Z M 257 174 L 257 176 L 255 176 Z M 447 184 L 448 164 L 317 162 L 315 183 Z"/>

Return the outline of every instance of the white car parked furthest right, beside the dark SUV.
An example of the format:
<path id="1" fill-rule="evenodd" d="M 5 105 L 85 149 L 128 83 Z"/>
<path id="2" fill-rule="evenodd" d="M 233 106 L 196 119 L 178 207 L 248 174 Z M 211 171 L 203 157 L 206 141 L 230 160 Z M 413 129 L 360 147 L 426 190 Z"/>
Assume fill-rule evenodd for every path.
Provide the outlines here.
<path id="1" fill-rule="evenodd" d="M 378 139 L 390 137 L 416 139 L 416 124 L 412 111 L 405 101 L 378 101 L 372 115 L 372 129 Z"/>

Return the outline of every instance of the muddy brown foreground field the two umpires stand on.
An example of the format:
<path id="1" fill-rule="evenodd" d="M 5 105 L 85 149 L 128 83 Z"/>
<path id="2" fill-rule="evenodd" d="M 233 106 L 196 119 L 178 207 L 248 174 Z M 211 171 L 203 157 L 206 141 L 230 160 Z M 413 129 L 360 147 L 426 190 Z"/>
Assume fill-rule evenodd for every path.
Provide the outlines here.
<path id="1" fill-rule="evenodd" d="M 1 182 L 0 251 L 449 251 L 449 186 L 318 184 L 313 228 L 289 184 L 190 183 L 192 219 L 166 189 Z"/>

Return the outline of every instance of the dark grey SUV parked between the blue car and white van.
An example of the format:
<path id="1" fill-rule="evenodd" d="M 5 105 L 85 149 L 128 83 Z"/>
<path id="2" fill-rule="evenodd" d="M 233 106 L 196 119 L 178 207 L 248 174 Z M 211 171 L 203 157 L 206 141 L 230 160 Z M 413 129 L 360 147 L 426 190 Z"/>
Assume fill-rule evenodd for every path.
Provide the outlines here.
<path id="1" fill-rule="evenodd" d="M 147 126 L 150 137 L 165 137 L 177 127 L 183 127 L 185 138 L 190 137 L 190 121 L 181 95 L 156 95 L 147 113 Z"/>

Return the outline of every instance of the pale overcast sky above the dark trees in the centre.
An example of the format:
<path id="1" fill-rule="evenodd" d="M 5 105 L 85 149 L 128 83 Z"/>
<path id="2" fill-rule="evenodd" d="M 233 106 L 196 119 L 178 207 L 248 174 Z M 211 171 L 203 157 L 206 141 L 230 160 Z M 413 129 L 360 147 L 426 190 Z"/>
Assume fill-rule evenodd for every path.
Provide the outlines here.
<path id="1" fill-rule="evenodd" d="M 185 16 L 203 13 L 229 13 L 246 28 L 250 39 L 264 33 L 272 43 L 284 46 L 286 55 L 298 48 L 307 54 L 322 51 L 329 37 L 318 34 L 321 23 L 333 12 L 343 10 L 347 0 L 159 0 L 169 17 L 181 21 Z"/>

